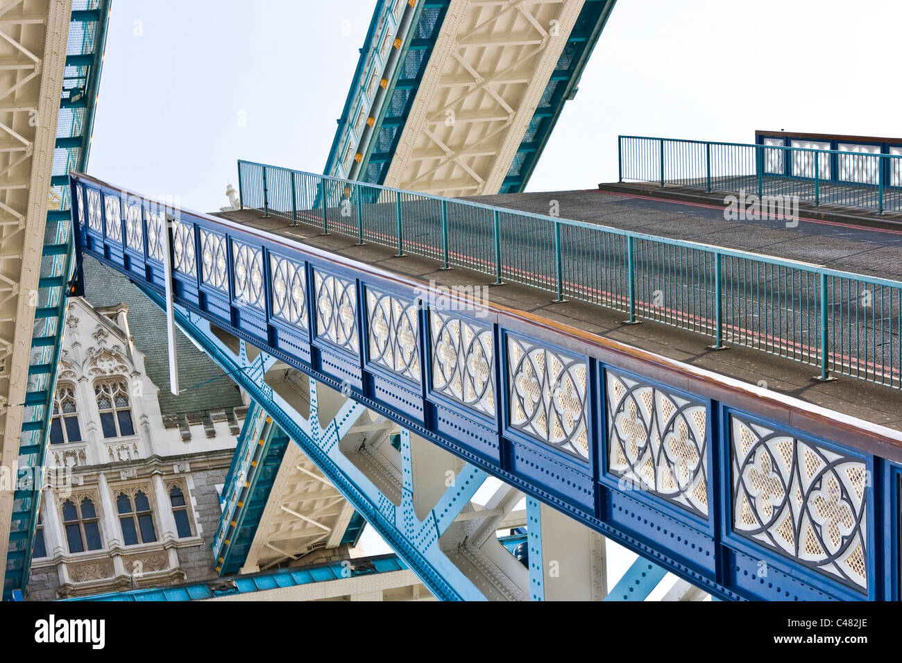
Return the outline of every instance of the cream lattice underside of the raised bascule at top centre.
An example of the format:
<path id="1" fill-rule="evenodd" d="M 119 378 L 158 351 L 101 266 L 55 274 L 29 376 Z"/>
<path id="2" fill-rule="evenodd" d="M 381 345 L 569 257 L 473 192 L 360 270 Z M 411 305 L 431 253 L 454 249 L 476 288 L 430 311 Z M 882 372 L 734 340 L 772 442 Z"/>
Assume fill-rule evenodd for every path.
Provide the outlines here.
<path id="1" fill-rule="evenodd" d="M 497 193 L 583 0 L 453 0 L 384 184 Z"/>

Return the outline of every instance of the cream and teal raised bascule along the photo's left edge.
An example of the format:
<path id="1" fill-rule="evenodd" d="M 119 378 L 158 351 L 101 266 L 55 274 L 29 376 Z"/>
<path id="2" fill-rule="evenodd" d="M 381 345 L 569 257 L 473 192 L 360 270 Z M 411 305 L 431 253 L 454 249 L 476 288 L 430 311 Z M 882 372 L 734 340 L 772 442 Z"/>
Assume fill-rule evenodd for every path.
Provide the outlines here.
<path id="1" fill-rule="evenodd" d="M 84 170 L 108 0 L 0 5 L 0 563 L 22 590 L 40 506 L 66 287 L 69 170 Z"/>

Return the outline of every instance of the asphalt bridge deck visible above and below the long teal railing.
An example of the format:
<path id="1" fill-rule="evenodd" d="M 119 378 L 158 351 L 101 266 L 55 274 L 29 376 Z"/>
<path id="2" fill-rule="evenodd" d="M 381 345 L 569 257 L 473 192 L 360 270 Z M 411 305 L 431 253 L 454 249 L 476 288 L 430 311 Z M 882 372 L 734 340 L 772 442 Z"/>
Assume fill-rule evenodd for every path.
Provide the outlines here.
<path id="1" fill-rule="evenodd" d="M 722 244 L 804 260 L 826 262 L 837 269 L 902 278 L 902 233 L 878 232 L 802 221 L 787 229 L 782 222 L 726 222 L 723 209 L 688 206 L 598 191 L 515 194 L 481 197 L 481 202 L 500 204 L 548 214 L 550 200 L 557 200 L 561 216 L 608 226 L 641 229 L 656 235 Z M 369 262 L 437 286 L 486 286 L 492 303 L 529 311 L 558 322 L 579 327 L 598 336 L 640 346 L 650 352 L 693 364 L 713 372 L 759 383 L 766 381 L 773 391 L 787 393 L 803 401 L 902 430 L 902 395 L 895 389 L 840 377 L 835 382 L 813 379 L 814 367 L 734 346 L 728 351 L 709 349 L 712 339 L 654 322 L 626 325 L 623 314 L 609 308 L 579 301 L 552 302 L 548 292 L 507 283 L 488 287 L 492 278 L 459 267 L 445 272 L 440 263 L 419 256 L 393 257 L 393 251 L 376 244 L 355 245 L 345 235 L 320 235 L 311 226 L 291 226 L 279 216 L 262 217 L 259 211 L 244 209 L 218 214 L 232 221 L 286 235 L 305 244 Z"/>

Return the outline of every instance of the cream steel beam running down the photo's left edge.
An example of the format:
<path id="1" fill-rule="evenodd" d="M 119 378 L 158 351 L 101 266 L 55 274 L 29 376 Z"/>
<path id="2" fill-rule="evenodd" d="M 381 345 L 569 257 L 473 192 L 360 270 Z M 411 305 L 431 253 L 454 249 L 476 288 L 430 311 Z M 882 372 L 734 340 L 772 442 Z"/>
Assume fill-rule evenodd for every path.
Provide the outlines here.
<path id="1" fill-rule="evenodd" d="M 0 476 L 16 477 L 71 0 L 0 4 Z M 0 482 L 0 565 L 14 485 Z"/>

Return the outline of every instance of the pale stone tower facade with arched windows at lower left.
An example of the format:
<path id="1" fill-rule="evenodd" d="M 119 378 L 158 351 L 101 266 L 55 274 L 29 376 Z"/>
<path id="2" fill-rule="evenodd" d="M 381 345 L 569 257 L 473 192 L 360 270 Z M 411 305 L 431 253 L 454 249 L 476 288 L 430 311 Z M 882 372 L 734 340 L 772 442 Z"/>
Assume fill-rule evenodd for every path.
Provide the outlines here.
<path id="1" fill-rule="evenodd" d="M 216 381 L 222 371 L 184 337 L 181 384 L 212 379 L 216 386 L 162 399 L 157 381 L 166 375 L 157 366 L 153 380 L 148 366 L 165 362 L 165 335 L 145 313 L 132 318 L 123 303 L 69 302 L 46 456 L 51 487 L 41 496 L 28 600 L 216 576 L 210 543 L 221 515 L 218 489 L 246 407 L 234 382 Z M 132 334 L 134 319 L 140 337 Z M 186 404 L 196 409 L 178 409 Z"/>

